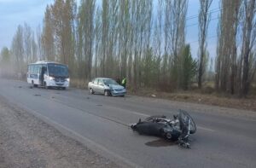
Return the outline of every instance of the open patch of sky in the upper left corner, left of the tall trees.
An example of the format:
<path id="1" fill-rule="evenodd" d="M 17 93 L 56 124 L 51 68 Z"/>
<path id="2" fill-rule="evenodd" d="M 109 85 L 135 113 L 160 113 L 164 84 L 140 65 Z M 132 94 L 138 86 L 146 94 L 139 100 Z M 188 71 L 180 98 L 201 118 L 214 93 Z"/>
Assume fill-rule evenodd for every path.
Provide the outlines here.
<path id="1" fill-rule="evenodd" d="M 36 31 L 44 10 L 53 0 L 0 0 L 0 49 L 10 47 L 18 25 L 25 22 Z"/>

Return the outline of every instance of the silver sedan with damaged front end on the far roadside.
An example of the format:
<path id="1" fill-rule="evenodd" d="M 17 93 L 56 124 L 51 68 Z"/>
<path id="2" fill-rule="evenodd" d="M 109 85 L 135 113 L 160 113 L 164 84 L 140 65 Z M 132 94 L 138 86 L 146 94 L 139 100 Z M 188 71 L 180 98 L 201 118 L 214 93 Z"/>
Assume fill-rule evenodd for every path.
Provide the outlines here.
<path id="1" fill-rule="evenodd" d="M 126 90 L 112 78 L 94 78 L 88 84 L 90 94 L 100 93 L 105 96 L 125 96 Z"/>

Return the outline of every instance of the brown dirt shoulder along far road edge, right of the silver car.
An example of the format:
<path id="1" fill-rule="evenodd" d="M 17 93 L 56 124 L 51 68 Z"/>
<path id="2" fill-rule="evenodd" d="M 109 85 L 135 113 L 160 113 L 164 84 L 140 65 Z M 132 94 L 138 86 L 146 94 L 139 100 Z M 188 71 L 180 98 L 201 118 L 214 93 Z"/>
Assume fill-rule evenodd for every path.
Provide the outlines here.
<path id="1" fill-rule="evenodd" d="M 192 102 L 218 107 L 231 107 L 236 109 L 250 110 L 256 112 L 256 96 L 237 98 L 236 96 L 219 95 L 216 93 L 203 94 L 199 91 L 177 91 L 173 93 L 158 90 L 142 89 L 131 92 L 131 95 L 161 98 L 171 101 Z"/>

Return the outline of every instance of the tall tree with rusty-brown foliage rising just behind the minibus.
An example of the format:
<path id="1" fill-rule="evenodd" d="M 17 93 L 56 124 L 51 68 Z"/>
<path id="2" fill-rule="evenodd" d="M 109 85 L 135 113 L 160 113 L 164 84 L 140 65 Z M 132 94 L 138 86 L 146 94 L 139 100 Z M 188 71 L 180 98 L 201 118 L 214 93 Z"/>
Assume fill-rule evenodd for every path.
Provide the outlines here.
<path id="1" fill-rule="evenodd" d="M 75 60 L 73 24 L 76 17 L 76 3 L 74 0 L 55 0 L 50 9 L 54 27 L 57 61 L 67 64 L 72 74 Z"/>

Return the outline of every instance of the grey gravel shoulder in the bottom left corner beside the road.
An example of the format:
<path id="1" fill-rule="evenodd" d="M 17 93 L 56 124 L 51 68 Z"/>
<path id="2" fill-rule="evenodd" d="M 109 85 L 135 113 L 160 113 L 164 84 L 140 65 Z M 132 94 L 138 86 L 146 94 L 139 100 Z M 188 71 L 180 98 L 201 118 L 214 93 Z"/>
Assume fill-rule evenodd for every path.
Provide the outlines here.
<path id="1" fill-rule="evenodd" d="M 0 97 L 0 167 L 119 167 Z"/>

